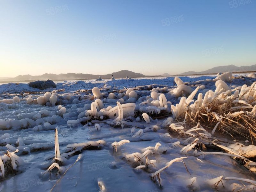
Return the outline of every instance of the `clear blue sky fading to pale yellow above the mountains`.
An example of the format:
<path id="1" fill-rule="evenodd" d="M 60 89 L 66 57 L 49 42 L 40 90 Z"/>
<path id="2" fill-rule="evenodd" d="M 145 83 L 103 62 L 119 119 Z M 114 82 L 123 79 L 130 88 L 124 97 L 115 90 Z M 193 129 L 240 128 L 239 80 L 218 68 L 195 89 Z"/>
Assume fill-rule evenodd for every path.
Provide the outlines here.
<path id="1" fill-rule="evenodd" d="M 0 77 L 255 61 L 255 0 L 0 0 Z"/>

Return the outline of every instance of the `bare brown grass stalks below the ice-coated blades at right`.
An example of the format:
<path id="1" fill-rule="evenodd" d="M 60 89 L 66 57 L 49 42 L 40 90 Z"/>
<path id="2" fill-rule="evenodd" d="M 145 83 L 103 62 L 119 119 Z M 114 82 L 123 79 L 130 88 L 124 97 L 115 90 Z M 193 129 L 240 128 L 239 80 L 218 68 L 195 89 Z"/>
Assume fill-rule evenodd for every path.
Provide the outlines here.
<path id="1" fill-rule="evenodd" d="M 248 112 L 250 108 L 247 108 L 247 106 L 235 104 L 229 100 L 226 101 L 225 108 L 222 108 L 223 105 L 220 103 L 216 104 L 216 101 L 213 100 L 207 107 L 200 106 L 195 114 L 191 115 L 188 110 L 186 111 L 187 122 L 199 123 L 206 128 L 213 128 L 214 131 L 217 129 L 221 133 L 229 134 L 234 138 L 240 135 L 255 143 L 255 108 L 251 112 Z"/>

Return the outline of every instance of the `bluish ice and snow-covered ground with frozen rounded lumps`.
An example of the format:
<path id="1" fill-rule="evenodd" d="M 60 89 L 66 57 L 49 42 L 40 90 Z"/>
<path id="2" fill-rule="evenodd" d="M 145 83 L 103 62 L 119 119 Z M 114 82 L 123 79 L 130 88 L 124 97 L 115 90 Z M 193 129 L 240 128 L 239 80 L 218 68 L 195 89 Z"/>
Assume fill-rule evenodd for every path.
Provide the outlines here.
<path id="1" fill-rule="evenodd" d="M 200 87 L 194 97 L 196 99 L 198 93 L 204 95 L 208 90 L 215 91 L 215 82 L 212 81 L 215 77 L 183 76 L 180 79 L 188 82 L 191 91 Z M 241 89 L 241 85 L 249 86 L 254 80 L 237 78 L 227 84 L 232 89 Z M 0 156 L 6 159 L 6 155 L 4 156 L 6 150 L 12 152 L 18 148 L 19 151 L 15 154 L 24 161 L 23 164 L 22 161 L 15 161 L 18 166 L 16 173 L 10 173 L 5 169 L 5 178 L 0 176 L 0 191 L 50 191 L 60 178 L 52 191 L 214 191 L 214 184 L 218 180 L 214 182 L 212 179 L 220 176 L 256 180 L 255 173 L 250 172 L 230 156 L 220 154 L 196 156 L 195 148 L 187 153 L 182 152 L 182 149 L 195 138 L 185 142 L 188 137 L 171 132 L 168 128 L 170 124 L 167 118 L 172 116 L 166 114 L 170 113 L 171 104 L 179 103 L 180 96 L 189 95 L 186 94 L 187 88 L 181 93 L 175 90 L 177 85 L 174 77 L 55 83 L 57 88 L 43 91 L 31 88 L 27 83 L 0 85 Z M 92 90 L 93 87 L 98 87 L 100 94 L 97 90 Z M 135 92 L 130 89 L 128 94 L 128 88 L 134 88 Z M 45 94 L 47 91 L 50 93 Z M 14 98 L 15 96 L 18 96 L 19 100 Z M 97 97 L 101 101 L 96 100 Z M 13 100 L 8 100 L 12 98 Z M 167 100 L 164 101 L 164 98 Z M 117 101 L 123 104 L 121 109 L 116 107 Z M 116 110 L 113 110 L 115 107 Z M 111 110 L 115 113 L 113 116 L 108 113 Z M 164 118 L 157 119 L 156 115 L 151 114 L 153 118 L 150 117 L 150 122 L 146 123 L 147 116 L 132 117 L 134 111 L 137 116 L 139 113 L 149 114 L 152 111 L 158 115 L 162 114 Z M 119 114 L 122 114 L 123 121 L 120 120 Z M 43 174 L 53 163 L 52 159 L 55 155 L 54 128 L 58 130 L 60 154 L 66 159 L 62 159 L 62 163 L 59 161 L 61 168 L 59 172 Z M 235 143 L 234 139 L 218 132 L 211 136 L 214 137 Z M 99 147 L 84 147 L 87 146 L 86 142 L 98 140 L 102 140 L 99 141 L 102 143 Z M 129 143 L 115 148 L 114 142 L 121 140 L 129 140 Z M 246 143 L 245 140 L 241 142 Z M 79 143 L 84 144 L 78 145 Z M 159 148 L 155 148 L 157 143 L 161 145 Z M 71 149 L 69 144 L 82 147 L 76 148 L 77 151 L 73 155 L 63 155 Z M 91 144 L 89 147 L 94 145 L 96 146 Z M 152 148 L 148 148 L 149 146 Z M 151 150 L 147 153 L 147 149 Z M 144 155 L 141 155 L 144 151 L 146 151 Z M 74 164 L 80 152 L 82 159 Z M 155 177 L 156 182 L 154 182 L 152 175 L 154 176 L 154 172 L 157 173 L 159 169 L 168 165 L 168 162 L 178 157 L 186 157 L 182 159 L 184 163 L 174 162 L 161 171 L 162 188 L 160 188 L 158 177 Z M 135 169 L 150 160 L 151 163 L 147 163 L 146 167 Z M 70 167 L 72 164 L 74 165 Z M 68 171 L 63 175 L 67 169 Z M 218 186 L 220 191 L 230 191 L 235 186 L 234 183 L 241 186 L 245 184 L 247 187 L 250 184 L 238 180 L 221 182 L 225 187 L 229 187 L 223 189 L 220 184 Z"/>

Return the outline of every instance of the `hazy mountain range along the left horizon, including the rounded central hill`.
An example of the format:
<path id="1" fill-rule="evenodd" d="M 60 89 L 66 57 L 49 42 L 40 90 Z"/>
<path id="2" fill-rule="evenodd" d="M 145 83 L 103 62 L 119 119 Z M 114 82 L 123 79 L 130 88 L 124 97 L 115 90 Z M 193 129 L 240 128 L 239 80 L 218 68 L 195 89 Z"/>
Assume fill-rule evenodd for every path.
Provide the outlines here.
<path id="1" fill-rule="evenodd" d="M 126 76 L 136 78 L 136 77 L 146 77 L 141 73 L 134 73 L 128 70 L 122 70 L 115 73 L 110 73 L 107 75 L 92 75 L 92 74 L 83 74 L 83 73 L 61 73 L 59 75 L 52 74 L 52 73 L 45 73 L 39 76 L 32 76 L 32 75 L 19 75 L 16 77 L 8 78 L 8 77 L 0 77 L 1 82 L 21 82 L 21 81 L 35 81 L 35 80 L 47 80 L 51 79 L 54 81 L 61 81 L 61 80 L 78 80 L 78 79 L 98 79 L 100 76 L 102 79 L 110 79 L 111 76 L 114 78 L 125 78 Z"/>

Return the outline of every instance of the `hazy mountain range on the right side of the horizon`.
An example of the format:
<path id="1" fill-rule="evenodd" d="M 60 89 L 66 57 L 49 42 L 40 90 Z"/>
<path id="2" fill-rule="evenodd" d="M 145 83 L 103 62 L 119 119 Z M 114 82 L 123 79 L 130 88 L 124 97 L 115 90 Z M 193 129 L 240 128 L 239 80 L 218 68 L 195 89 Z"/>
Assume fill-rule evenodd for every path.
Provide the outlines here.
<path id="1" fill-rule="evenodd" d="M 256 65 L 252 66 L 241 66 L 237 67 L 235 65 L 227 65 L 227 66 L 218 66 L 211 69 L 208 69 L 206 71 L 196 72 L 196 71 L 188 71 L 185 73 L 181 73 L 178 75 L 200 75 L 200 74 L 217 74 L 219 72 L 247 72 L 247 71 L 256 71 Z"/>

